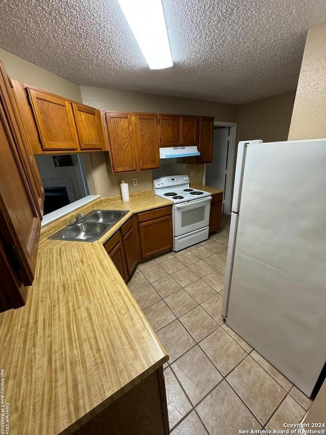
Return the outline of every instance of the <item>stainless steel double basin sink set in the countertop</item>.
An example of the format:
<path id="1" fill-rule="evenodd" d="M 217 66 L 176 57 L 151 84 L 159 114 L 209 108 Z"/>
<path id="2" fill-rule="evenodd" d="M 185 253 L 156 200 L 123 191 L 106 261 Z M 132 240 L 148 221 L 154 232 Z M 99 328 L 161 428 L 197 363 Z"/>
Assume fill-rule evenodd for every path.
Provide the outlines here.
<path id="1" fill-rule="evenodd" d="M 128 212 L 129 210 L 93 210 L 78 222 L 52 234 L 49 239 L 95 242 Z"/>

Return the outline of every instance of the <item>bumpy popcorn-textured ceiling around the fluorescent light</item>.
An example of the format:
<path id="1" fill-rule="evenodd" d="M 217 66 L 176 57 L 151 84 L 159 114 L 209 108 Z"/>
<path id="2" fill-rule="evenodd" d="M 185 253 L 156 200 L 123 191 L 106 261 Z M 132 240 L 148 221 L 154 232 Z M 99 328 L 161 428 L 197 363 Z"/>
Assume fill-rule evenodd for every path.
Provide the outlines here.
<path id="1" fill-rule="evenodd" d="M 85 86 L 241 104 L 294 90 L 325 0 L 162 0 L 174 66 L 150 70 L 116 0 L 1 0 L 0 46 Z"/>

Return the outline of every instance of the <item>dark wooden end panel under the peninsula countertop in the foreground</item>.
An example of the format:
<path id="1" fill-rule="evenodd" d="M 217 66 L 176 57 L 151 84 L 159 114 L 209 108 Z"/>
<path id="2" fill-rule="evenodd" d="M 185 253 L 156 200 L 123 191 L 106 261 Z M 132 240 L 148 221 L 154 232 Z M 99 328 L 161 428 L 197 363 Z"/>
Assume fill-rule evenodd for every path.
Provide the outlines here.
<path id="1" fill-rule="evenodd" d="M 162 367 L 73 433 L 168 435 L 168 407 Z"/>

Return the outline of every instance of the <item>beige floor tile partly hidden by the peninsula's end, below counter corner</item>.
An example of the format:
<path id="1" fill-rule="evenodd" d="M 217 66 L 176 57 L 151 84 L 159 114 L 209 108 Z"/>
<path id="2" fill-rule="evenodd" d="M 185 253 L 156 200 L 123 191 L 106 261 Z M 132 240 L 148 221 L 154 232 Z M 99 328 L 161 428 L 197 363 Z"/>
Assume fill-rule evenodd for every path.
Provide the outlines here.
<path id="1" fill-rule="evenodd" d="M 167 392 L 169 426 L 172 429 L 192 409 L 192 404 L 184 394 L 170 367 L 164 371 Z"/>

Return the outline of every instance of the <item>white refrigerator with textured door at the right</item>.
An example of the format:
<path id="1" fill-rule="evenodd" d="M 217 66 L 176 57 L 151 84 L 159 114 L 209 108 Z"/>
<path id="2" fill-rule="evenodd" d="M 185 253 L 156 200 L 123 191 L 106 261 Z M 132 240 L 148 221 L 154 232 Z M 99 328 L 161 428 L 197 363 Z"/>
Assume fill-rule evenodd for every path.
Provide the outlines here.
<path id="1" fill-rule="evenodd" d="M 326 361 L 326 139 L 261 142 L 238 146 L 222 314 L 310 396 Z"/>

